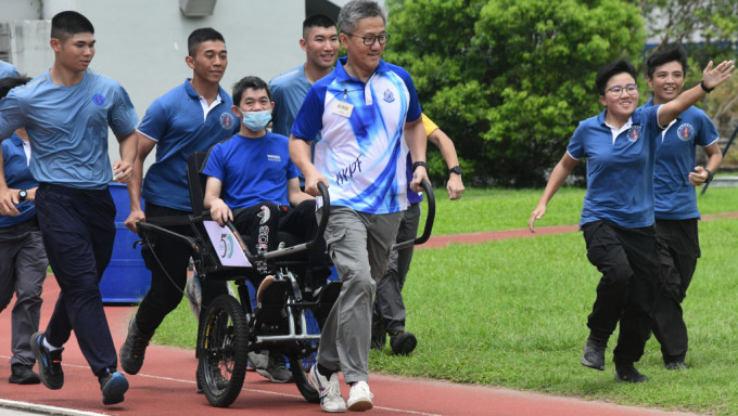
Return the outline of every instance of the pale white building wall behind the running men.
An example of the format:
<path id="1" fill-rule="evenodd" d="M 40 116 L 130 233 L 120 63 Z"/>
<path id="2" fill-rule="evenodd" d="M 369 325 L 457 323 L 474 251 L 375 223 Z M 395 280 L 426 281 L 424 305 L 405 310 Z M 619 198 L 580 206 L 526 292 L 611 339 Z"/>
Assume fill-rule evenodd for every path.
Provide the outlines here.
<path id="1" fill-rule="evenodd" d="M 16 28 L 11 61 L 21 73 L 35 77 L 49 69 L 48 21 L 64 10 L 92 22 L 97 51 L 90 67 L 126 88 L 139 118 L 154 99 L 192 76 L 184 56 L 195 28 L 209 26 L 224 35 L 228 68 L 221 86 L 229 92 L 246 75 L 268 81 L 305 62 L 298 43 L 304 0 L 217 0 L 206 17 L 182 15 L 178 0 L 0 0 L 0 23 Z M 18 22 L 38 18 L 47 22 Z M 119 159 L 112 134 L 110 143 L 111 160 Z"/>

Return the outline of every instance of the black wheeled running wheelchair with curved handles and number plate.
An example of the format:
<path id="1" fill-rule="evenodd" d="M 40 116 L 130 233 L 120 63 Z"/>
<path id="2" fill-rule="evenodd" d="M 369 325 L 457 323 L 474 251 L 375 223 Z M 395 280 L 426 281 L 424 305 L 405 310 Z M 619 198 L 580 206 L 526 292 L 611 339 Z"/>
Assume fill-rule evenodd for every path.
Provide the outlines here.
<path id="1" fill-rule="evenodd" d="M 306 292 L 298 281 L 308 266 L 305 258 L 295 255 L 319 244 L 330 216 L 330 196 L 321 183 L 319 190 L 323 213 L 313 240 L 281 247 L 267 252 L 252 253 L 243 239 L 228 222 L 218 225 L 203 209 L 203 181 L 200 167 L 206 153 L 193 153 L 188 159 L 187 177 L 190 186 L 192 213 L 187 217 L 151 219 L 139 223 L 142 244 L 153 245 L 151 236 L 167 236 L 187 243 L 193 250 L 194 270 L 204 280 L 234 281 L 241 301 L 231 295 L 213 300 L 205 316 L 200 318 L 196 356 L 196 379 L 207 401 L 216 407 L 227 407 L 238 398 L 246 374 L 249 352 L 269 351 L 287 358 L 293 380 L 301 394 L 311 403 L 320 395 L 307 379 L 320 339 L 319 327 L 328 316 L 341 292 L 341 282 L 329 281 L 315 292 Z M 403 249 L 428 240 L 435 217 L 435 200 L 430 184 L 423 181 L 428 202 L 428 216 L 423 234 L 415 240 L 395 244 Z M 167 229 L 189 225 L 193 236 Z M 282 235 L 280 242 L 282 242 Z M 287 238 L 289 240 L 289 238 Z M 154 243 L 155 244 L 155 243 Z M 152 250 L 153 251 L 153 250 Z M 273 259 L 277 268 L 275 281 L 267 286 L 260 304 L 254 307 L 249 292 L 250 276 L 254 276 L 257 261 Z"/>

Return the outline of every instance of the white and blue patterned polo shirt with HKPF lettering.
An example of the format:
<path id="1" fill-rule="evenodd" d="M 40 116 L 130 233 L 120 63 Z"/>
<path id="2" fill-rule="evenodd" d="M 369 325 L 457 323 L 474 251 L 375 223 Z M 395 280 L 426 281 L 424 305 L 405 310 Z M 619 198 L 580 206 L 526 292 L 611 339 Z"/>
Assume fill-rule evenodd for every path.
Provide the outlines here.
<path id="1" fill-rule="evenodd" d="M 405 122 L 421 115 L 410 75 L 380 61 L 365 83 L 346 74 L 346 57 L 313 84 L 292 134 L 313 141 L 315 166 L 330 184 L 331 205 L 359 212 L 407 209 Z M 320 205 L 320 199 L 318 205 Z"/>

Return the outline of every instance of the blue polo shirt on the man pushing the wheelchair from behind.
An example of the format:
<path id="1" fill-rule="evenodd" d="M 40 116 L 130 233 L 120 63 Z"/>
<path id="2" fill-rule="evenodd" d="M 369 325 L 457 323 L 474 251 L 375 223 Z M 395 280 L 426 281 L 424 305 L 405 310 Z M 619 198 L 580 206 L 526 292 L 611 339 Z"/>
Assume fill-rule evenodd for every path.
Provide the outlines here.
<path id="1" fill-rule="evenodd" d="M 187 158 L 230 138 L 240 126 L 231 112 L 231 96 L 222 88 L 219 94 L 221 102 L 205 116 L 200 95 L 187 79 L 149 106 L 139 126 L 141 133 L 156 141 L 156 161 L 141 187 L 147 203 L 192 211 Z"/>

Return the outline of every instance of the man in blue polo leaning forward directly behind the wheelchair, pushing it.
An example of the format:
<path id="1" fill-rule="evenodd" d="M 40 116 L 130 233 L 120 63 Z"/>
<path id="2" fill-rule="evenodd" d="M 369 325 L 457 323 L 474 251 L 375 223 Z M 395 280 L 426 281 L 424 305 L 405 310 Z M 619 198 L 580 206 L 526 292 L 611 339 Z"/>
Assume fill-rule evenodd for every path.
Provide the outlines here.
<path id="1" fill-rule="evenodd" d="M 139 126 L 138 157 L 133 179 L 128 185 L 131 211 L 125 222 L 133 232 L 139 221 L 191 213 L 187 158 L 193 152 L 209 150 L 238 131 L 238 118 L 231 112 L 233 103 L 219 84 L 228 66 L 222 35 L 212 28 L 195 29 L 189 36 L 188 52 L 184 61 L 192 68 L 192 78 L 156 99 Z M 156 161 L 149 168 L 141 186 L 143 161 L 154 146 L 157 147 Z M 141 196 L 145 200 L 145 214 L 139 203 Z M 192 233 L 189 225 L 169 229 L 184 235 Z M 181 301 L 187 282 L 191 256 L 187 244 L 158 236 L 153 250 L 144 247 L 141 251 L 151 270 L 151 288 L 131 318 L 128 336 L 120 348 L 120 365 L 128 374 L 141 369 L 149 340 L 164 317 Z M 226 282 L 204 283 L 203 307 L 226 292 Z"/>

